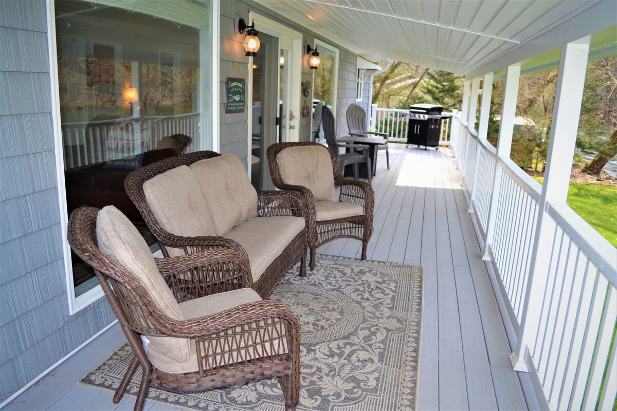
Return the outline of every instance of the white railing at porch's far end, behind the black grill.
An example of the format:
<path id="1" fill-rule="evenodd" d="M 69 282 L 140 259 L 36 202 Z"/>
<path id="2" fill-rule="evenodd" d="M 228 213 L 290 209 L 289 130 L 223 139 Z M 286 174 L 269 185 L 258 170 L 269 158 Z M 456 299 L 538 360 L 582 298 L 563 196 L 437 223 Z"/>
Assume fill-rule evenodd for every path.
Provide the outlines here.
<path id="1" fill-rule="evenodd" d="M 408 110 L 399 108 L 378 108 L 375 104 L 371 108 L 371 131 L 387 132 L 389 140 L 407 142 Z M 444 112 L 451 115 L 452 113 Z M 450 118 L 441 121 L 439 145 L 450 145 Z"/>

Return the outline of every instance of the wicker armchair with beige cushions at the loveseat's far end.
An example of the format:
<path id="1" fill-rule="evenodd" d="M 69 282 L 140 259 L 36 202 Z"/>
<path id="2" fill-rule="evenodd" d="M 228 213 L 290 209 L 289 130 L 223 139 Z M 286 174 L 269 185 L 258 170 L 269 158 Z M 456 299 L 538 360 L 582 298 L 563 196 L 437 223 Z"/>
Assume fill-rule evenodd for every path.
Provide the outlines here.
<path id="1" fill-rule="evenodd" d="M 294 190 L 305 199 L 310 269 L 315 250 L 335 238 L 362 241 L 362 259 L 373 234 L 375 193 L 365 181 L 346 179 L 331 150 L 314 142 L 278 143 L 268 147 L 272 181 L 281 190 Z M 340 187 L 334 200 L 334 186 Z"/>

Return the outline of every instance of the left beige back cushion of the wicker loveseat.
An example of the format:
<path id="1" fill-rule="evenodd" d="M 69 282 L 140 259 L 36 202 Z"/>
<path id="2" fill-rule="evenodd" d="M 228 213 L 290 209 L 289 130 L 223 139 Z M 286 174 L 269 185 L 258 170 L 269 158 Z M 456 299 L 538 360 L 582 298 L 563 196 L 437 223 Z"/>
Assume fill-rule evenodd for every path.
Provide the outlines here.
<path id="1" fill-rule="evenodd" d="M 144 196 L 161 227 L 186 237 L 218 235 L 210 208 L 188 166 L 179 166 L 144 182 Z M 170 249 L 180 255 L 180 249 Z"/>

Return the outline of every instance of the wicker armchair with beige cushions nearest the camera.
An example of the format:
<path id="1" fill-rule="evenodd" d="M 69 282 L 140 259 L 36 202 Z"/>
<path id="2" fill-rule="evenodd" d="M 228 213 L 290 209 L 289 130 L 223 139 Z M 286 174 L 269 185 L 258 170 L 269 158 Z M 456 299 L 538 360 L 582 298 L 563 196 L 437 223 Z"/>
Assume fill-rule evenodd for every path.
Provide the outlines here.
<path id="1" fill-rule="evenodd" d="M 143 409 L 149 386 L 191 392 L 273 376 L 283 389 L 286 410 L 296 409 L 297 319 L 283 304 L 262 300 L 247 288 L 251 274 L 238 252 L 218 249 L 154 259 L 114 206 L 75 210 L 68 242 L 96 270 L 133 349 L 115 404 L 141 365 L 136 411 Z"/>

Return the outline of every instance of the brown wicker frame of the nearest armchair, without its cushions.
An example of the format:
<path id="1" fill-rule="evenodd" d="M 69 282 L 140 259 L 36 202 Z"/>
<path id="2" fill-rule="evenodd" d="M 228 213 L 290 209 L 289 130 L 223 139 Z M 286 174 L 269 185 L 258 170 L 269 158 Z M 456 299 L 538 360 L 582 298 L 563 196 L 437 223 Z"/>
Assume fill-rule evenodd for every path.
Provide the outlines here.
<path id="1" fill-rule="evenodd" d="M 278 377 L 283 389 L 286 410 L 295 410 L 300 389 L 300 329 L 294 314 L 281 303 L 262 300 L 204 317 L 171 319 L 160 310 L 149 290 L 141 285 L 135 275 L 99 250 L 96 241 L 98 212 L 97 208 L 81 207 L 71 214 L 68 243 L 81 259 L 94 267 L 133 349 L 133 359 L 115 392 L 114 404 L 120 402 L 137 366 L 141 365 L 143 377 L 135 411 L 143 410 L 149 386 L 189 393 L 274 376 Z M 218 248 L 172 258 L 157 258 L 155 262 L 178 302 L 252 286 L 246 258 L 230 249 Z M 286 352 L 273 352 L 222 365 L 217 365 L 217 359 L 205 354 L 212 352 L 214 347 L 233 346 L 233 341 L 238 340 L 246 344 L 243 353 L 246 347 L 251 352 L 263 352 L 264 345 L 270 344 L 270 341 L 255 343 L 252 335 L 256 332 L 272 333 L 272 328 L 264 329 L 267 327 L 278 330 L 281 344 L 283 338 L 286 339 Z M 173 374 L 154 367 L 144 352 L 141 335 L 194 338 L 199 371 Z"/>

